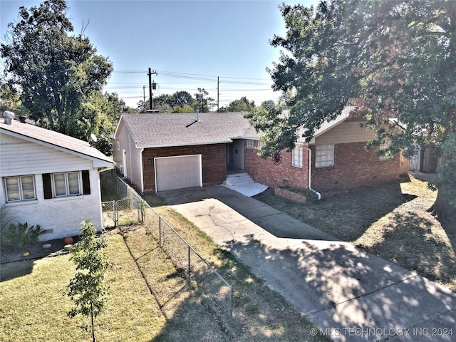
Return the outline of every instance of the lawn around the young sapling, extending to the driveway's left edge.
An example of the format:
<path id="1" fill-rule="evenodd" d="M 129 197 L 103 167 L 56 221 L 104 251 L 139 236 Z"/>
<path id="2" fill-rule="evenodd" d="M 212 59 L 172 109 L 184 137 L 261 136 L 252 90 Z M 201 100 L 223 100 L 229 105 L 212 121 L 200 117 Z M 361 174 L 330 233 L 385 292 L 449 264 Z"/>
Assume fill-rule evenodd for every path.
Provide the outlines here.
<path id="1" fill-rule="evenodd" d="M 157 204 L 160 204 L 157 202 Z M 163 217 L 234 285 L 231 341 L 328 341 L 262 279 L 166 206 Z M 157 246 L 147 224 L 105 233 L 113 267 L 108 308 L 95 319 L 98 341 L 229 341 L 217 315 Z M 66 316 L 63 295 L 74 266 L 69 255 L 1 265 L 0 341 L 91 341 L 89 321 Z"/>

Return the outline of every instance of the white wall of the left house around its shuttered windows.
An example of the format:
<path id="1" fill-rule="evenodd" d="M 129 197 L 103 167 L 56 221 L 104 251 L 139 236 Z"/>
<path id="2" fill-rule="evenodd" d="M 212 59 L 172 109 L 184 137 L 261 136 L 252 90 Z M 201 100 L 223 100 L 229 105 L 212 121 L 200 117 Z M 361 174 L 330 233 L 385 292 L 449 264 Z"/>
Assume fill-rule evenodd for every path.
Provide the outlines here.
<path id="1" fill-rule="evenodd" d="M 77 235 L 85 219 L 90 220 L 95 229 L 101 229 L 99 175 L 97 169 L 92 169 L 90 160 L 24 140 L 5 138 L 5 135 L 2 135 L 1 143 L 0 206 L 6 202 L 3 177 L 33 175 L 35 178 L 36 200 L 6 204 L 15 222 L 40 224 L 42 229 L 51 229 L 41 237 L 42 241 Z M 44 199 L 43 173 L 80 170 L 89 170 L 90 195 Z"/>

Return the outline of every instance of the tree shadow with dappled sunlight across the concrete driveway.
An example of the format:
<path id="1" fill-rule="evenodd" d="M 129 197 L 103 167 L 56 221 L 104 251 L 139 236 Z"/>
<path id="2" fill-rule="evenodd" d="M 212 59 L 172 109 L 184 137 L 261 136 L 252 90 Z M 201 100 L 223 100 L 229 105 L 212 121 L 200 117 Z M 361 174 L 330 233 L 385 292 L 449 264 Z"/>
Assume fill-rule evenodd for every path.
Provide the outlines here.
<path id="1" fill-rule="evenodd" d="M 456 295 L 428 279 L 345 242 L 284 240 L 227 249 L 320 328 L 408 328 L 450 310 L 456 322 Z"/>

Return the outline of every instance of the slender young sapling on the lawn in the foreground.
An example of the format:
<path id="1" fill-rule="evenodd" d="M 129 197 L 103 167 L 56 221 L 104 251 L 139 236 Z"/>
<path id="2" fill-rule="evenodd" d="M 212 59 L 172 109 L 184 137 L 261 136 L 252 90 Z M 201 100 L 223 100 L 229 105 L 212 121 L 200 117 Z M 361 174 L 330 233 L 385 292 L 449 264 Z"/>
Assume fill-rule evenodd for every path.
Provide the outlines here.
<path id="1" fill-rule="evenodd" d="M 76 307 L 68 312 L 68 316 L 90 316 L 93 342 L 93 321 L 105 309 L 108 296 L 105 274 L 110 261 L 106 247 L 105 239 L 95 237 L 93 224 L 89 221 L 81 222 L 79 241 L 71 247 L 71 260 L 76 264 L 76 274 L 66 289 L 66 295 Z"/>

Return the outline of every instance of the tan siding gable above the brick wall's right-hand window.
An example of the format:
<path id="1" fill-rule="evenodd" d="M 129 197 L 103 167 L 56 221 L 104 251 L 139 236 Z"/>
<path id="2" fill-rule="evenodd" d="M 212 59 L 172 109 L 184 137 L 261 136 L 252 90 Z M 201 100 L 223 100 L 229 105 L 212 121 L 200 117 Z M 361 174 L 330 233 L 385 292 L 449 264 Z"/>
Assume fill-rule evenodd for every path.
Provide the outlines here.
<path id="1" fill-rule="evenodd" d="M 343 144 L 375 139 L 375 132 L 370 129 L 361 128 L 360 123 L 361 121 L 344 121 L 335 128 L 315 138 L 315 143 L 318 145 Z"/>

